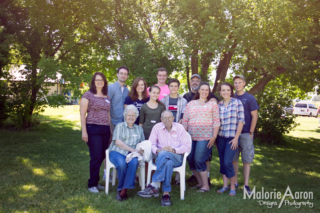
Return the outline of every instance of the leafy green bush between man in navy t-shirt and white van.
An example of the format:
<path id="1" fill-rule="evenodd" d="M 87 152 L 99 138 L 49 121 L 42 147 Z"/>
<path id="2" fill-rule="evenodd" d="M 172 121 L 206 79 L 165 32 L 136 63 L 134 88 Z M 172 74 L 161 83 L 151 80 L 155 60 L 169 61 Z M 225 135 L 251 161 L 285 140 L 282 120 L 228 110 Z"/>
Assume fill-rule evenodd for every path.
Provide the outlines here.
<path id="1" fill-rule="evenodd" d="M 300 125 L 295 122 L 296 116 L 284 113 L 284 107 L 290 107 L 295 97 L 304 99 L 307 94 L 300 93 L 295 85 L 281 82 L 279 78 L 270 81 L 256 95 L 260 109 L 255 134 L 260 142 L 279 144 L 284 141 L 285 134 Z"/>

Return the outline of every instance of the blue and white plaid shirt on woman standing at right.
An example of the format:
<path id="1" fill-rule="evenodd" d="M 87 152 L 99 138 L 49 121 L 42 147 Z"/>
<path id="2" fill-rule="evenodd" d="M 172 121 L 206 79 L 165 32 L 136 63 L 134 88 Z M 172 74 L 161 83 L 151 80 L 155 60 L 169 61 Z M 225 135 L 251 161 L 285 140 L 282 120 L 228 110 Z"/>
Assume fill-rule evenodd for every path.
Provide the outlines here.
<path id="1" fill-rule="evenodd" d="M 244 122 L 244 108 L 242 102 L 231 98 L 228 107 L 224 106 L 224 101 L 219 104 L 221 126 L 218 135 L 225 138 L 236 136 L 238 123 Z"/>

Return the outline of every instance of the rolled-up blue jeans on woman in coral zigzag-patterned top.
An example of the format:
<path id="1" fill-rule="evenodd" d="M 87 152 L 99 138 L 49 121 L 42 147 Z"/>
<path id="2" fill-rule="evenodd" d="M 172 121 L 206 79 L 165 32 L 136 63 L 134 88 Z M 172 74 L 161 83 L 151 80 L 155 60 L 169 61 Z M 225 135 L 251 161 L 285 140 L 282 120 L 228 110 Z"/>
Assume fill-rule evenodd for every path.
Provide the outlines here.
<path id="1" fill-rule="evenodd" d="M 191 144 L 191 152 L 188 155 L 188 163 L 190 170 L 196 170 L 202 172 L 207 170 L 205 161 L 208 159 L 212 152 L 212 147 L 209 149 L 209 140 L 193 140 Z"/>

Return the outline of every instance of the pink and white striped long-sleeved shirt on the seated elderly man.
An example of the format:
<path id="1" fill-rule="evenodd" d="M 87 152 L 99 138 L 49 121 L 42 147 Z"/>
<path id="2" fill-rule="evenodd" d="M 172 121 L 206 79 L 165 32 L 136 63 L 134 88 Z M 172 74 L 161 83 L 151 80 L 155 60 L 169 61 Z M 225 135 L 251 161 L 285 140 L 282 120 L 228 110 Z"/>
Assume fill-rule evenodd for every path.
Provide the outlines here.
<path id="1" fill-rule="evenodd" d="M 171 146 L 177 154 L 189 152 L 191 141 L 188 140 L 187 132 L 180 123 L 173 122 L 171 132 L 160 122 L 152 128 L 149 140 L 151 141 L 151 151 L 157 154 L 157 149 L 164 146 Z"/>

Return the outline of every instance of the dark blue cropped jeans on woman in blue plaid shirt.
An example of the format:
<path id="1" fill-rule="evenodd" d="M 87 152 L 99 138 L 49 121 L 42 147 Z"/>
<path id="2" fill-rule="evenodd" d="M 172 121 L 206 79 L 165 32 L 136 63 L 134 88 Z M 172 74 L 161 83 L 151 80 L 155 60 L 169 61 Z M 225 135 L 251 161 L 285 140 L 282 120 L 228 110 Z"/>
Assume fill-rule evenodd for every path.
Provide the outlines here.
<path id="1" fill-rule="evenodd" d="M 238 146 L 240 142 L 240 137 L 238 138 Z M 234 137 L 233 137 L 234 138 Z M 235 156 L 238 147 L 235 150 L 231 149 L 232 143 L 229 142 L 233 138 L 225 138 L 217 136 L 217 148 L 220 158 L 220 173 L 226 175 L 226 177 L 234 177 L 235 176 L 235 169 L 233 168 L 232 160 Z"/>

